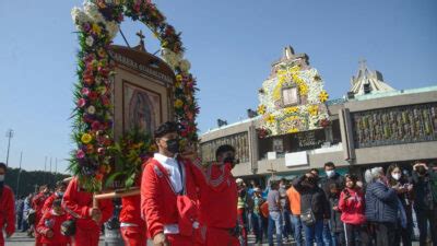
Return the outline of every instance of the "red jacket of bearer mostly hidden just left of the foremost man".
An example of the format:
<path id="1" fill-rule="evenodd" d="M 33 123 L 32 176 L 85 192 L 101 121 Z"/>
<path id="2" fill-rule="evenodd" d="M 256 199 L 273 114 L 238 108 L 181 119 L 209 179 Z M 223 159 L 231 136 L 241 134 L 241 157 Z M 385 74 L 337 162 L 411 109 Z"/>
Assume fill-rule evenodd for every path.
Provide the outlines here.
<path id="1" fill-rule="evenodd" d="M 141 176 L 137 179 L 135 185 L 141 187 Z M 140 194 L 121 198 L 120 222 L 145 226 L 145 221 L 141 218 Z"/>

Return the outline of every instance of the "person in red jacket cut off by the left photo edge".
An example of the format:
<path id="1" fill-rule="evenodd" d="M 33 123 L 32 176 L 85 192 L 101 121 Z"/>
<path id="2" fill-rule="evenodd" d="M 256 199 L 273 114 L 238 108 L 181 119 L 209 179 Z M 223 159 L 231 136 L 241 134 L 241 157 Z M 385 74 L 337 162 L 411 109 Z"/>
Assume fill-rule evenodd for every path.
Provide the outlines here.
<path id="1" fill-rule="evenodd" d="M 0 246 L 4 245 L 3 229 L 7 237 L 15 232 L 15 199 L 12 189 L 4 185 L 7 165 L 0 163 Z"/>

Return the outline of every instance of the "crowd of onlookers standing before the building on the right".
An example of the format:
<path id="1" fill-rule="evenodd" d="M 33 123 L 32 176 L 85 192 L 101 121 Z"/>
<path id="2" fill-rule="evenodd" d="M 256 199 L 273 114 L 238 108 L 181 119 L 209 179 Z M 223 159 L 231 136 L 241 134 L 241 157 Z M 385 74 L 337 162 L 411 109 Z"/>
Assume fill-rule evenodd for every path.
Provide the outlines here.
<path id="1" fill-rule="evenodd" d="M 437 245 L 437 166 L 374 167 L 361 180 L 328 162 L 324 174 L 312 168 L 293 180 L 271 180 L 267 189 L 251 181 L 245 221 L 257 243 L 409 246 L 415 226 L 421 246 Z"/>

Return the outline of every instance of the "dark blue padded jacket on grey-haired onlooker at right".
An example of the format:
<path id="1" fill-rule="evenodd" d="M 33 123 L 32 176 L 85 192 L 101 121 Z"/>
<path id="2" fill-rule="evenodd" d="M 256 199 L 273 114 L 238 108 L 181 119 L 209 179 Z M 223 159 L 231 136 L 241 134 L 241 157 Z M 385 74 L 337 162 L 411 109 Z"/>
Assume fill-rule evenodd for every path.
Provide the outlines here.
<path id="1" fill-rule="evenodd" d="M 398 221 L 397 191 L 380 181 L 368 184 L 365 213 L 367 221 L 395 223 Z"/>

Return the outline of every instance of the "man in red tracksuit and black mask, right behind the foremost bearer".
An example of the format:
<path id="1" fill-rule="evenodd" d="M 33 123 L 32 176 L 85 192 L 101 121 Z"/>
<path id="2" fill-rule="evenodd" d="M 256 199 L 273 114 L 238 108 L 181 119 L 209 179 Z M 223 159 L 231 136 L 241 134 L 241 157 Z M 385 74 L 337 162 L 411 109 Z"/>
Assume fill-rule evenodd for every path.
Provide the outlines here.
<path id="1" fill-rule="evenodd" d="M 235 149 L 221 145 L 205 172 L 208 185 L 200 187 L 200 222 L 206 226 L 206 246 L 237 246 L 237 200 L 238 191 L 231 173 L 235 165 Z"/>

